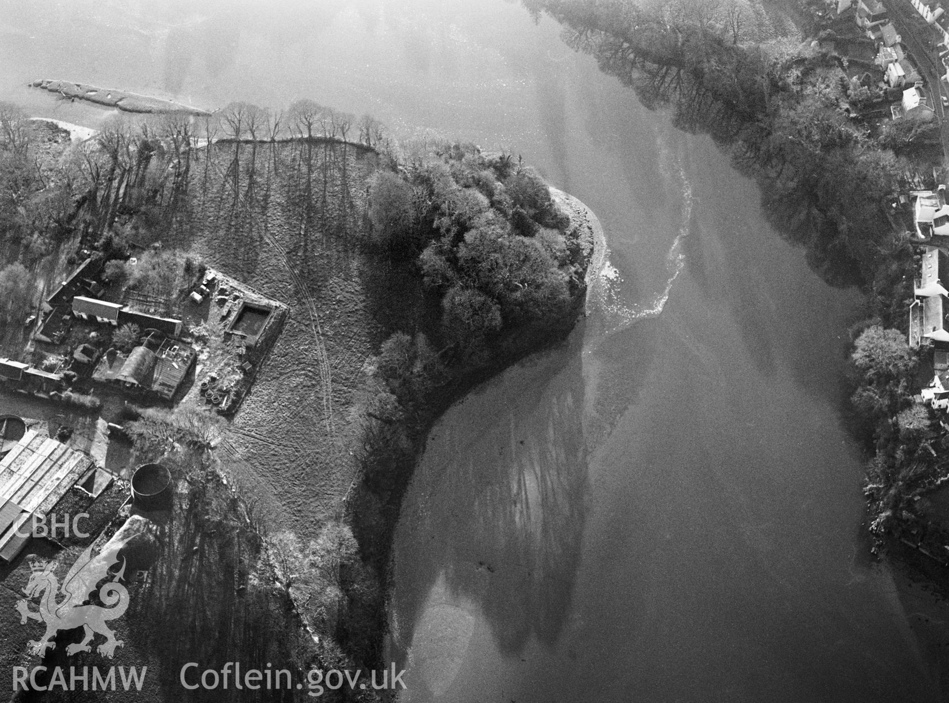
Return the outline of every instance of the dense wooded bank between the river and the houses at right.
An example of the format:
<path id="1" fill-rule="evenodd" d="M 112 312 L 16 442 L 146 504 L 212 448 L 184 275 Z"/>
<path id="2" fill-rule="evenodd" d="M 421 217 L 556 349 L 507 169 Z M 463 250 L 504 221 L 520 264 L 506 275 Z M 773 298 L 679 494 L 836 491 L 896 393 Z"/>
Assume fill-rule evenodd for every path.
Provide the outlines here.
<path id="1" fill-rule="evenodd" d="M 930 165 L 921 145 L 938 143 L 934 124 L 880 119 L 900 91 L 848 78 L 846 60 L 814 41 L 762 32 L 740 0 L 524 4 L 563 24 L 569 46 L 647 107 L 716 139 L 758 180 L 772 225 L 805 248 L 811 267 L 865 292 L 849 382 L 851 425 L 872 456 L 869 527 L 877 546 L 932 530 L 922 496 L 949 476 L 947 448 L 934 414 L 912 400 L 928 353 L 911 350 L 905 334 L 918 257 L 887 209 Z"/>

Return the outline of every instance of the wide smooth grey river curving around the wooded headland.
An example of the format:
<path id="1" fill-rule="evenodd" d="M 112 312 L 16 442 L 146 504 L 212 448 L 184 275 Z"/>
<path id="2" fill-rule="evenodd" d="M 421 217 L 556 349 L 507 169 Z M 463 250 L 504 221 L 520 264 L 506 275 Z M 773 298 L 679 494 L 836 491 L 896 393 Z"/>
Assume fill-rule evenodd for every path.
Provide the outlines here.
<path id="1" fill-rule="evenodd" d="M 859 300 L 768 227 L 754 183 L 518 4 L 264 7 L 9 4 L 0 93 L 91 126 L 97 108 L 22 84 L 202 107 L 311 97 L 402 136 L 512 149 L 609 244 L 568 342 L 429 438 L 394 549 L 401 699 L 939 700 L 866 558 L 840 419 Z"/>

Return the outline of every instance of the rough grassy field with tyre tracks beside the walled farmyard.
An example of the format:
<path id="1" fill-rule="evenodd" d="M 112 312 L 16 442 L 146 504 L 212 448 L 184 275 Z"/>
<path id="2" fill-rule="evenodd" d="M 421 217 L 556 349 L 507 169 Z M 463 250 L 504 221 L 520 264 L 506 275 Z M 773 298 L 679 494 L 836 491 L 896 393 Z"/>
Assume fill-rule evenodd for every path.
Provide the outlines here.
<path id="1" fill-rule="evenodd" d="M 187 212 L 162 239 L 289 305 L 283 333 L 219 453 L 270 527 L 312 536 L 356 476 L 351 422 L 387 329 L 380 263 L 363 252 L 366 178 L 354 145 L 217 143 L 192 167 Z"/>

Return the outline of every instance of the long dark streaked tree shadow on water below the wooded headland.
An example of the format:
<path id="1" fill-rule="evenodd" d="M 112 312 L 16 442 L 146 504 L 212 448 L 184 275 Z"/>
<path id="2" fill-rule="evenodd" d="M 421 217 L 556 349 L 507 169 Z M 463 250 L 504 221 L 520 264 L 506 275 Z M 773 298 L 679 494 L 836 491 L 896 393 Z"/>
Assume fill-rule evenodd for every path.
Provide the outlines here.
<path id="1" fill-rule="evenodd" d="M 558 638 L 586 520 L 580 342 L 578 330 L 490 381 L 429 436 L 414 480 L 431 490 L 409 490 L 396 536 L 403 652 L 437 583 L 445 600 L 476 605 L 509 656 Z"/>

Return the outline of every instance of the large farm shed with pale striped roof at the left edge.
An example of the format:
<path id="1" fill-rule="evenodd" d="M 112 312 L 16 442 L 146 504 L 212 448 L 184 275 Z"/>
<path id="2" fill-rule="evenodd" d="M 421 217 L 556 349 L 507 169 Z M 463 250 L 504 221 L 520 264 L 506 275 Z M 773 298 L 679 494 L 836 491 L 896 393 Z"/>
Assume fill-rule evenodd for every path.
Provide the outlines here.
<path id="1" fill-rule="evenodd" d="M 84 453 L 33 430 L 0 459 L 0 560 L 12 561 L 26 546 L 24 527 L 47 516 L 95 464 Z M 18 535 L 17 532 L 21 535 Z"/>

